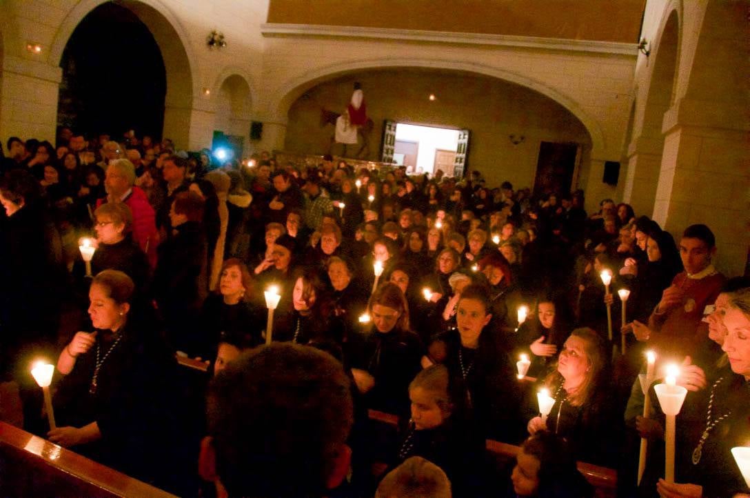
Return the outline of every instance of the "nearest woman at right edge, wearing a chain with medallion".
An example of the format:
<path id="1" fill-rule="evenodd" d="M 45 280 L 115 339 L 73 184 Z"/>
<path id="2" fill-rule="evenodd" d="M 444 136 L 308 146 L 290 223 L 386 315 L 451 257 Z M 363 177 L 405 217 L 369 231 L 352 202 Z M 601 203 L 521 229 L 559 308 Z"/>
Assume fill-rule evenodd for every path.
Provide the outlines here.
<path id="1" fill-rule="evenodd" d="M 723 322 L 727 335 L 721 349 L 729 367 L 705 390 L 708 399 L 700 405 L 705 408 L 699 412 L 699 424 L 682 445 L 691 463 L 676 469 L 676 480 L 693 484 L 659 479 L 660 496 L 713 498 L 750 492 L 731 454 L 733 447 L 746 446 L 750 428 L 750 287 L 730 295 Z"/>

